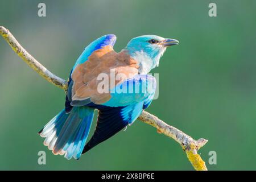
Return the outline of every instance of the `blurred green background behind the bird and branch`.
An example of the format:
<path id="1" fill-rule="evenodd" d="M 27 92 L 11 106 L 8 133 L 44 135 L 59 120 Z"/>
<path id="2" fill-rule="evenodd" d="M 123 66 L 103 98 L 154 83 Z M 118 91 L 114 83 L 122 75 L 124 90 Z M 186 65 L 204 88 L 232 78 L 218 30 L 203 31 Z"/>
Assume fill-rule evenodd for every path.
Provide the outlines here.
<path id="1" fill-rule="evenodd" d="M 47 16 L 39 18 L 38 3 Z M 208 15 L 210 2 L 217 17 Z M 117 35 L 180 41 L 160 60 L 159 98 L 147 109 L 195 139 L 210 170 L 256 169 L 256 1 L 0 1 L 0 25 L 56 75 L 67 78 L 90 42 Z M 64 107 L 63 90 L 28 68 L 0 38 L 0 169 L 192 170 L 174 140 L 135 122 L 82 155 L 55 156 L 38 131 Z M 95 121 L 93 126 L 95 125 Z M 38 164 L 38 151 L 47 164 Z M 217 165 L 209 165 L 209 151 Z"/>

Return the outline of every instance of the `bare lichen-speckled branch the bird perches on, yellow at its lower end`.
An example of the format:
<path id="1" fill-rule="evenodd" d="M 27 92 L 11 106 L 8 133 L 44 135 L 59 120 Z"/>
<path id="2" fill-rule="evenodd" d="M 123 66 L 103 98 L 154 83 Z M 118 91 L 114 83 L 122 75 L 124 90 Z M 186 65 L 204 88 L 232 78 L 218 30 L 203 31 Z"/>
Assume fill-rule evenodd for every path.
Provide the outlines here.
<path id="1" fill-rule="evenodd" d="M 16 52 L 18 56 L 21 57 L 23 61 L 27 63 L 32 69 L 34 69 L 40 76 L 51 82 L 53 85 L 67 90 L 67 81 L 57 77 L 48 71 L 48 69 L 46 69 L 42 64 L 40 64 L 39 61 L 31 56 L 30 53 L 28 53 L 26 49 L 24 49 L 19 44 L 19 42 L 14 38 L 9 30 L 0 26 L 0 34 L 6 40 L 6 42 L 9 43 L 10 47 L 13 48 L 14 52 Z M 155 127 L 158 133 L 163 133 L 167 137 L 170 137 L 179 143 L 187 154 L 187 157 L 192 163 L 192 166 L 196 170 L 207 170 L 204 160 L 201 159 L 199 154 L 197 154 L 197 151 L 203 147 L 204 144 L 208 142 L 208 140 L 194 140 L 193 138 L 189 137 L 189 135 L 183 133 L 173 126 L 167 125 L 167 123 L 163 122 L 158 117 L 155 117 L 155 115 L 152 115 L 144 110 L 138 119 L 144 123 L 147 123 L 148 125 Z"/>

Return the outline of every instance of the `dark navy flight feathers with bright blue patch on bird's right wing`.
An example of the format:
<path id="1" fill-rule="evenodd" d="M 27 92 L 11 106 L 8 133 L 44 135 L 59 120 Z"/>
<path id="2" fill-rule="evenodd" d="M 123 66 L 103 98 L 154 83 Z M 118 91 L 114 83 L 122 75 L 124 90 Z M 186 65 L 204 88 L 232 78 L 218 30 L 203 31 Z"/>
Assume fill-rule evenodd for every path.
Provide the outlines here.
<path id="1" fill-rule="evenodd" d="M 143 102 L 139 102 L 129 106 L 105 107 L 99 110 L 96 130 L 85 145 L 82 154 L 133 123 L 141 114 L 142 107 Z"/>

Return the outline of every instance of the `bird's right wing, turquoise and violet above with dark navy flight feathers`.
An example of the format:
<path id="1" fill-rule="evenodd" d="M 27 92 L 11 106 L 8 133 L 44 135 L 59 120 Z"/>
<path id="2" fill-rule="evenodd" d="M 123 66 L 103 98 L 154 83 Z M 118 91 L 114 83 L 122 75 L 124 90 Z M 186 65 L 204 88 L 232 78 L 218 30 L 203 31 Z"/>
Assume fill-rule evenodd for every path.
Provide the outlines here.
<path id="1" fill-rule="evenodd" d="M 156 80 L 150 75 L 137 75 L 118 84 L 115 89 L 108 102 L 96 106 L 99 110 L 96 130 L 83 153 L 131 125 L 142 109 L 150 105 L 156 90 Z M 125 90 L 125 93 L 120 93 Z"/>

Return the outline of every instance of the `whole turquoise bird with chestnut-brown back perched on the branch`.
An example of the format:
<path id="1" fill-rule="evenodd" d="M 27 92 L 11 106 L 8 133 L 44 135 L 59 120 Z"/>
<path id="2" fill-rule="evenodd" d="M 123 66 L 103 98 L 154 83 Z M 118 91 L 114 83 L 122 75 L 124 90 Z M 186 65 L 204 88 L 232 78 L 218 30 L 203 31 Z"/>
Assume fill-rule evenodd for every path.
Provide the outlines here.
<path id="1" fill-rule="evenodd" d="M 131 125 L 154 98 L 156 79 L 149 72 L 158 67 L 167 47 L 179 44 L 176 39 L 143 35 L 115 52 L 116 39 L 109 34 L 94 40 L 73 66 L 65 109 L 38 133 L 53 154 L 80 159 Z M 96 129 L 86 143 L 96 109 Z"/>

